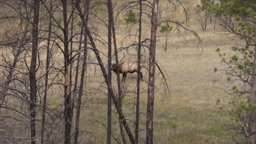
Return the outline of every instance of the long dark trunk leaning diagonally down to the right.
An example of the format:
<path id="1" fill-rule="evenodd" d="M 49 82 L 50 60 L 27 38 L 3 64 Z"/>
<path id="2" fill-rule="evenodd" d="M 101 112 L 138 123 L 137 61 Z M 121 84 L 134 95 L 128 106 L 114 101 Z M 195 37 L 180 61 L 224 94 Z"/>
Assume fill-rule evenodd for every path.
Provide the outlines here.
<path id="1" fill-rule="evenodd" d="M 83 19 L 82 11 L 81 11 L 81 9 L 80 9 L 79 3 L 80 3 L 80 1 L 78 0 L 78 1 L 77 1 L 77 4 L 76 4 L 76 7 L 77 7 L 77 10 L 78 10 L 79 16 L 80 16 L 80 18 L 82 19 L 82 22 L 83 22 L 83 24 L 84 24 L 84 23 L 85 23 L 85 20 Z M 117 109 L 117 113 L 118 113 L 119 117 L 120 117 L 121 119 L 123 119 L 122 122 L 123 122 L 123 125 L 124 125 L 124 127 L 125 127 L 126 133 L 127 133 L 127 135 L 129 136 L 129 138 L 130 138 L 131 143 L 135 143 L 134 137 L 133 137 L 133 135 L 132 135 L 132 133 L 131 133 L 131 130 L 130 130 L 130 127 L 129 127 L 128 123 L 126 122 L 126 119 L 125 119 L 125 117 L 124 117 L 124 114 L 123 114 L 122 110 L 119 110 L 119 102 L 118 102 L 118 100 L 117 100 L 116 97 L 115 97 L 114 90 L 112 89 L 111 85 L 108 83 L 108 82 L 109 82 L 109 81 L 108 81 L 108 74 L 107 74 L 107 71 L 106 71 L 106 69 L 105 69 L 105 67 L 104 67 L 104 65 L 103 65 L 103 62 L 102 62 L 101 58 L 100 58 L 99 51 L 98 51 L 98 49 L 97 49 L 97 47 L 96 47 L 96 45 L 95 45 L 95 43 L 94 43 L 94 41 L 93 41 L 93 37 L 92 37 L 92 35 L 91 35 L 91 32 L 90 32 L 90 30 L 89 30 L 88 27 L 85 27 L 85 30 L 86 30 L 87 36 L 88 36 L 89 39 L 90 39 L 90 42 L 91 42 L 91 45 L 92 45 L 92 50 L 93 50 L 93 52 L 95 53 L 95 56 L 96 56 L 96 58 L 97 58 L 97 60 L 98 60 L 98 62 L 99 62 L 99 66 L 100 66 L 100 68 L 101 68 L 103 77 L 105 78 L 105 82 L 106 82 L 107 87 L 108 87 L 108 90 L 109 90 L 109 92 L 110 92 L 110 94 L 111 94 L 112 100 L 113 100 L 113 102 L 114 102 L 114 104 L 115 104 L 115 107 L 116 107 L 116 109 Z"/>

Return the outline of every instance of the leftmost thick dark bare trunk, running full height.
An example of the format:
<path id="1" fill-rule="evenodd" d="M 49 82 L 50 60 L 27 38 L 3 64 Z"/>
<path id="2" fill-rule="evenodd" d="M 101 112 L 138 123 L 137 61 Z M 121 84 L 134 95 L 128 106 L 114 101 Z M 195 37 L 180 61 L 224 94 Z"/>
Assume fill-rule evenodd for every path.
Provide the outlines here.
<path id="1" fill-rule="evenodd" d="M 39 21 L 39 0 L 34 1 L 34 20 L 32 29 L 32 55 L 29 69 L 29 85 L 30 85 L 30 141 L 31 144 L 36 143 L 36 59 L 38 44 L 38 21 Z"/>

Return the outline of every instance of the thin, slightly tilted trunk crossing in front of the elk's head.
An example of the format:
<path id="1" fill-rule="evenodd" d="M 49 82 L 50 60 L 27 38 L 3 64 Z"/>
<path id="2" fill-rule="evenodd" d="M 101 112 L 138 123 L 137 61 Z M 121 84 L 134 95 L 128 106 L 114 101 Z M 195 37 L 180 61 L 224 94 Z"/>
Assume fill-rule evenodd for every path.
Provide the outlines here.
<path id="1" fill-rule="evenodd" d="M 113 42 L 114 42 L 114 48 L 115 48 L 115 58 L 116 58 L 116 66 L 117 66 L 117 89 L 118 89 L 118 98 L 119 98 L 119 109 L 122 110 L 122 91 L 121 91 L 121 83 L 120 83 L 120 71 L 119 71 L 119 61 L 118 61 L 118 53 L 117 53 L 117 45 L 116 45 L 116 34 L 115 34 L 115 23 L 114 23 L 114 18 L 113 18 L 113 8 L 112 8 L 112 3 L 111 0 L 108 0 L 109 4 L 109 12 L 111 14 L 111 27 L 112 27 L 112 33 L 113 33 Z M 124 128 L 122 125 L 123 119 L 119 117 L 119 126 L 120 126 L 120 132 L 121 132 L 121 137 L 123 140 L 123 143 L 126 143 L 125 139 L 125 134 L 124 134 Z"/>

